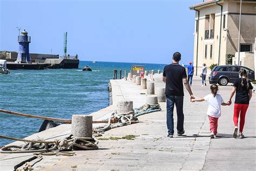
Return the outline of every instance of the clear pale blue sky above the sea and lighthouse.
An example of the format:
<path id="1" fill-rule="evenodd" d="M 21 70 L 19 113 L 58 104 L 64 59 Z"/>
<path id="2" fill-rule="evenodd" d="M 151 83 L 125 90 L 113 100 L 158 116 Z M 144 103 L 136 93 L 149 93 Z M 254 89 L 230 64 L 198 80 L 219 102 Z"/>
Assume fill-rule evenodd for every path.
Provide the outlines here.
<path id="1" fill-rule="evenodd" d="M 17 51 L 17 26 L 31 36 L 30 53 L 63 55 L 80 60 L 170 63 L 193 60 L 194 16 L 188 9 L 199 0 L 78 1 L 0 0 L 0 51 Z"/>

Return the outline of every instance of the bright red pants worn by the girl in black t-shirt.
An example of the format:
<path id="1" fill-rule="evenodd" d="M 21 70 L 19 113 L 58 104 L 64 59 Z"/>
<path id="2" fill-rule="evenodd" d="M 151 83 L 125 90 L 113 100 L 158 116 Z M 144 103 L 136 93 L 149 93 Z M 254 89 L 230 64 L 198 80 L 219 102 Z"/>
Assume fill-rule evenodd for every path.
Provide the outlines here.
<path id="1" fill-rule="evenodd" d="M 249 107 L 248 104 L 234 104 L 234 116 L 233 116 L 234 126 L 238 125 L 238 118 L 239 118 L 239 114 L 240 114 L 239 132 L 242 132 L 242 129 L 244 129 L 245 114 L 246 114 L 248 107 Z"/>

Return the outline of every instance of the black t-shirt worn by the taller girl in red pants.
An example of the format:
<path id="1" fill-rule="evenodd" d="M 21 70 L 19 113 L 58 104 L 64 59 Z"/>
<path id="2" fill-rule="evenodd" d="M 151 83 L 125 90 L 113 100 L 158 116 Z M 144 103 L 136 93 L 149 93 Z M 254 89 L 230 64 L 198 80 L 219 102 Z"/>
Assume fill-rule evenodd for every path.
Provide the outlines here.
<path id="1" fill-rule="evenodd" d="M 249 104 L 249 90 L 252 90 L 251 81 L 247 83 L 247 80 L 243 78 L 244 86 L 241 85 L 242 78 L 237 78 L 234 82 L 234 87 L 237 87 L 237 91 L 235 92 L 235 104 Z M 247 84 L 249 87 L 247 88 Z"/>

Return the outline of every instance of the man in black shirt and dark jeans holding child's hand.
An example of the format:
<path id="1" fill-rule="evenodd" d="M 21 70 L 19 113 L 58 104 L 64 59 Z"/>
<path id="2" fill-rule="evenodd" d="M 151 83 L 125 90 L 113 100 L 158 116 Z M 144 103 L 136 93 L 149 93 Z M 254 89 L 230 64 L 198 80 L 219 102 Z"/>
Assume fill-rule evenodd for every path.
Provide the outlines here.
<path id="1" fill-rule="evenodd" d="M 179 65 L 181 54 L 175 52 L 172 57 L 172 63 L 164 67 L 163 81 L 165 84 L 166 95 L 166 124 L 168 129 L 168 137 L 172 138 L 173 129 L 173 110 L 176 105 L 177 110 L 177 135 L 183 135 L 184 131 L 184 113 L 183 113 L 183 83 L 190 93 L 190 99 L 194 99 L 190 84 L 187 80 L 185 67 Z"/>

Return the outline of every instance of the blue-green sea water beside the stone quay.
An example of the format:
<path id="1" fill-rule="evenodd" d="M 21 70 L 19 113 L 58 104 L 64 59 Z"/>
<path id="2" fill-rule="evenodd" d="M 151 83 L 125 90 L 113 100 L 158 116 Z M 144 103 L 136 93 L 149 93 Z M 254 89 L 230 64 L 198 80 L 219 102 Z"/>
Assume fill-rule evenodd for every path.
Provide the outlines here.
<path id="1" fill-rule="evenodd" d="M 11 70 L 0 74 L 0 108 L 19 113 L 71 119 L 72 114 L 90 114 L 109 106 L 108 83 L 113 70 L 127 73 L 131 65 L 163 71 L 165 64 L 80 61 L 79 69 Z M 82 71 L 89 65 L 90 71 Z M 25 138 L 37 133 L 43 120 L 0 113 L 0 135 Z M 11 141 L 0 139 L 0 145 Z"/>

